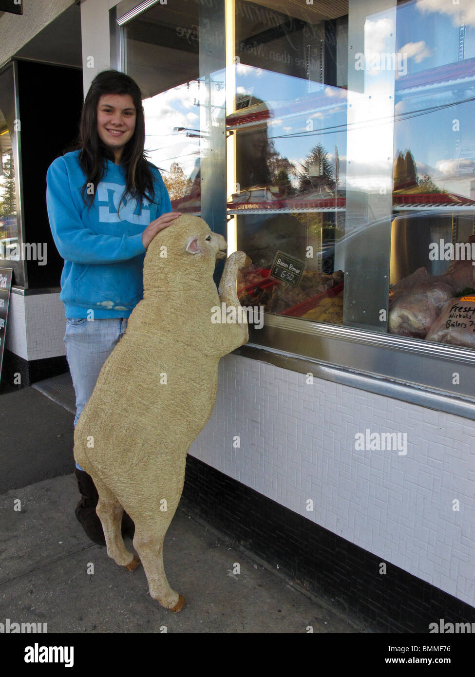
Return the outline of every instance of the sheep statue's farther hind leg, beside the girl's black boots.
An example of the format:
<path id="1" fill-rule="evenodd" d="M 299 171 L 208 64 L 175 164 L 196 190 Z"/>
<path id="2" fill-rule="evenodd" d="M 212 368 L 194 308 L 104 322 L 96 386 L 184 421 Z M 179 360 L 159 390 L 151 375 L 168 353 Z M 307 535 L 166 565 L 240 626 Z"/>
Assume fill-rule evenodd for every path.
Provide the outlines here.
<path id="1" fill-rule="evenodd" d="M 115 498 L 110 489 L 102 481 L 94 477 L 94 483 L 99 494 L 98 506 L 96 512 L 102 523 L 104 538 L 106 539 L 107 554 L 120 567 L 125 567 L 128 571 L 133 571 L 140 565 L 140 559 L 125 548 L 122 538 L 122 515 L 123 507 Z"/>

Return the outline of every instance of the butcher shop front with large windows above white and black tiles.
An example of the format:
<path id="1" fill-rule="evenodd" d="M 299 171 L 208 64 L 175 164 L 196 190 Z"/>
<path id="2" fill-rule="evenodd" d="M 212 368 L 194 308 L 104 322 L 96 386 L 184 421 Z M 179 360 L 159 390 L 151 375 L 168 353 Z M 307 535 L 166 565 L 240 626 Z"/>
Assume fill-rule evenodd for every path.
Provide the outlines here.
<path id="1" fill-rule="evenodd" d="M 238 282 L 249 343 L 220 363 L 186 500 L 378 627 L 473 621 L 469 0 L 40 4 L 41 25 L 28 0 L 23 16 L 0 17 L 0 32 L 29 22 L 28 41 L 2 53 L 2 157 L 16 167 L 3 241 L 51 242 L 26 181 L 45 175 L 24 138 L 33 68 L 43 89 L 55 83 L 48 97 L 60 82 L 74 102 L 60 135 L 45 117 L 56 130 L 46 167 L 75 135 L 97 72 L 130 74 L 173 208 L 253 261 Z M 43 269 L 11 264 L 5 374 L 26 385 L 67 368 L 61 261 L 48 251 Z"/>

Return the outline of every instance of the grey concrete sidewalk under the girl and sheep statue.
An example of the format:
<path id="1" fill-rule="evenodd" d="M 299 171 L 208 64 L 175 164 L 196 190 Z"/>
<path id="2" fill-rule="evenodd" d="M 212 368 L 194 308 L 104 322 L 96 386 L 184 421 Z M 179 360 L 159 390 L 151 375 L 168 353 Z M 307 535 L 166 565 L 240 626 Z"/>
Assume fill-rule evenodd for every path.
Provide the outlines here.
<path id="1" fill-rule="evenodd" d="M 4 393 L 0 431 L 1 622 L 47 623 L 48 633 L 161 632 L 162 626 L 200 633 L 305 633 L 308 626 L 315 633 L 372 632 L 222 537 L 183 501 L 164 559 L 186 605 L 178 614 L 166 611 L 150 598 L 143 568 L 118 567 L 75 518 L 73 414 L 31 388 Z M 126 545 L 133 549 L 131 540 Z"/>

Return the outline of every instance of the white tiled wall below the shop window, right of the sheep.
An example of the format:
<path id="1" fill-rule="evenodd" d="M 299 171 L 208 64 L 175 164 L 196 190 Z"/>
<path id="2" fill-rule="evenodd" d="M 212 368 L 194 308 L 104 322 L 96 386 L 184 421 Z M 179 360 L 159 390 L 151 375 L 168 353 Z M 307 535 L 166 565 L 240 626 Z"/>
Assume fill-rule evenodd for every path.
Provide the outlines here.
<path id="1" fill-rule="evenodd" d="M 356 451 L 366 429 L 407 454 Z M 190 454 L 475 607 L 471 420 L 228 355 Z"/>

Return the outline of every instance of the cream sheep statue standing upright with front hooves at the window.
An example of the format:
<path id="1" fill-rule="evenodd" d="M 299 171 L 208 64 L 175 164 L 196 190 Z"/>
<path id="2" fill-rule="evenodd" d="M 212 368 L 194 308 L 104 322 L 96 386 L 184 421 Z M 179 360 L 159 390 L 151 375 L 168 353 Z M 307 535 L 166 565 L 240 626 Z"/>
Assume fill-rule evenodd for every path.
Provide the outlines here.
<path id="1" fill-rule="evenodd" d="M 154 237 L 143 300 L 75 428 L 75 459 L 98 489 L 108 555 L 129 571 L 142 561 L 150 596 L 171 611 L 185 600 L 167 581 L 163 540 L 182 495 L 186 454 L 211 416 L 220 357 L 248 339 L 236 277 L 251 261 L 243 252 L 228 257 L 218 295 L 213 271 L 222 257 L 226 240 L 199 217 L 180 216 Z M 222 303 L 239 322 L 211 320 Z M 125 548 L 123 510 L 135 523 L 140 559 Z"/>

